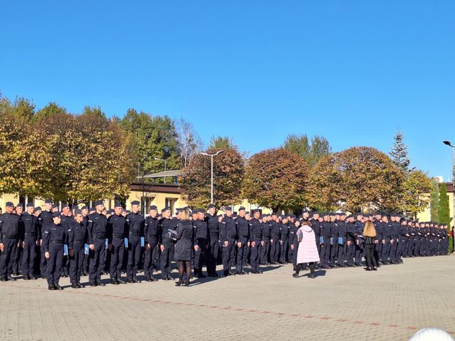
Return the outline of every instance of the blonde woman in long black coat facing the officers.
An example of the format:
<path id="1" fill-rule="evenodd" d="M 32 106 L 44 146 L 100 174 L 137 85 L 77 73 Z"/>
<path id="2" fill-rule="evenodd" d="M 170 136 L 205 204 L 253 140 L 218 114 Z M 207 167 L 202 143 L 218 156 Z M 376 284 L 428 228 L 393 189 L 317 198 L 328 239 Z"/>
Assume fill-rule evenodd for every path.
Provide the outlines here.
<path id="1" fill-rule="evenodd" d="M 191 275 L 191 256 L 193 249 L 197 251 L 197 245 L 194 244 L 194 231 L 193 223 L 189 220 L 188 210 L 182 211 L 182 218 L 179 225 L 177 225 L 177 236 L 175 243 L 174 259 L 178 262 L 179 281 L 175 283 L 176 286 L 190 285 Z M 186 270 L 186 281 L 183 281 L 184 270 Z"/>

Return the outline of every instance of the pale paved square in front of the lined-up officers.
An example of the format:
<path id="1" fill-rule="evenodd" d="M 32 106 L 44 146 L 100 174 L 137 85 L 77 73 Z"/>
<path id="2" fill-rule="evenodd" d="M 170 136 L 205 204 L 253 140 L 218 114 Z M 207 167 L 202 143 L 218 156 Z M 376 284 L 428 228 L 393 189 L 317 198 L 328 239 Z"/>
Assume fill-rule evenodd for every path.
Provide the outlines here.
<path id="1" fill-rule="evenodd" d="M 377 272 L 317 270 L 316 279 L 294 279 L 291 265 L 263 270 L 190 287 L 73 289 L 65 278 L 64 290 L 49 291 L 44 279 L 2 282 L 0 340 L 408 340 L 424 327 L 455 337 L 454 255 Z"/>

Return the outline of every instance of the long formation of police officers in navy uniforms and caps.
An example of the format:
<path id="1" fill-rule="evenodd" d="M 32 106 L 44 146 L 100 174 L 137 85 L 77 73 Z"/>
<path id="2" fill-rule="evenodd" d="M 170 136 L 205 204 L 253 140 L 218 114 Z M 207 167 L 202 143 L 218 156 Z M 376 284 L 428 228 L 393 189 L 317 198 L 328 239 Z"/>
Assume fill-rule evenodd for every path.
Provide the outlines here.
<path id="1" fill-rule="evenodd" d="M 156 281 L 153 271 L 160 264 L 161 279 L 171 280 L 175 229 L 180 223 L 180 211 L 175 217 L 169 207 L 158 214 L 151 205 L 149 215 L 140 213 L 139 201 L 132 201 L 131 212 L 121 203 L 107 211 L 103 201 L 93 208 L 62 205 L 61 211 L 51 199 L 45 210 L 33 203 L 14 206 L 8 202 L 0 215 L 0 280 L 36 279 L 40 273 L 47 279 L 49 290 L 61 290 L 60 277 L 69 275 L 72 288 L 82 288 L 81 276 L 88 270 L 90 286 L 104 286 L 103 273 L 109 273 L 110 283 L 136 283 L 143 268 L 146 281 Z M 185 207 L 187 208 L 187 207 Z M 294 266 L 298 241 L 296 232 L 301 220 L 310 220 L 321 262 L 319 268 L 361 266 L 363 227 L 371 220 L 376 227 L 375 256 L 379 264 L 399 264 L 402 257 L 447 255 L 447 225 L 421 223 L 401 218 L 398 214 L 324 213 L 304 210 L 300 216 L 277 213 L 252 216 L 240 207 L 224 207 L 225 214 L 216 215 L 214 205 L 206 210 L 192 210 L 196 251 L 192 265 L 194 276 L 219 277 L 217 264 L 223 264 L 223 275 L 260 274 L 260 265 L 287 264 Z M 221 260 L 220 260 L 221 258 Z M 126 273 L 126 281 L 121 274 Z"/>

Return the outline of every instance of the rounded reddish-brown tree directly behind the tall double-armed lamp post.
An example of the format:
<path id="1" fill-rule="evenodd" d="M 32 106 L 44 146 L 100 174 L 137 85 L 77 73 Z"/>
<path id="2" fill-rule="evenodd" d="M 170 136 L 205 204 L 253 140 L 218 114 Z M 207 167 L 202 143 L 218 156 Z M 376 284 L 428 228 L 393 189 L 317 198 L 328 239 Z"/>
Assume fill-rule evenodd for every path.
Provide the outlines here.
<path id="1" fill-rule="evenodd" d="M 208 149 L 207 153 L 217 153 Z M 210 203 L 210 157 L 196 154 L 182 170 L 179 182 L 185 188 L 184 199 L 193 207 Z M 226 149 L 213 158 L 213 200 L 218 208 L 241 202 L 244 165 L 236 149 Z"/>

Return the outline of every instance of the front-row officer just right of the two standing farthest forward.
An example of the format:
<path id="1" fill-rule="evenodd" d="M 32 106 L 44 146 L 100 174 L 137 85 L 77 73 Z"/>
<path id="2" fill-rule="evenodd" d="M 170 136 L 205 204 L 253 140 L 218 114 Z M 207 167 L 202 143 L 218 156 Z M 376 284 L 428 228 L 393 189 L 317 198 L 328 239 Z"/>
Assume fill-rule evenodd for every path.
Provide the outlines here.
<path id="1" fill-rule="evenodd" d="M 106 243 L 108 219 L 103 215 L 104 202 L 95 201 L 95 213 L 88 217 L 88 244 L 90 247 L 90 286 L 104 286 L 101 282 L 101 271 L 106 259 Z"/>

